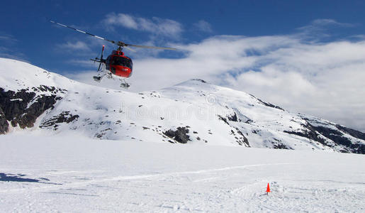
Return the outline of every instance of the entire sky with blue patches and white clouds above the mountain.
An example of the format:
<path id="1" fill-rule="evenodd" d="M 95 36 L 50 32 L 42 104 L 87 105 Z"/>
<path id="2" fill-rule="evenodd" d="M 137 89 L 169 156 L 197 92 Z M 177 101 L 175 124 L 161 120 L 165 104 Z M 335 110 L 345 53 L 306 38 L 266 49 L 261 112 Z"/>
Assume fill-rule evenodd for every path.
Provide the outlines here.
<path id="1" fill-rule="evenodd" d="M 9 1 L 0 8 L 0 57 L 74 80 L 111 40 L 174 46 L 125 50 L 131 91 L 191 78 L 239 89 L 294 112 L 365 131 L 365 1 Z M 118 88 L 118 83 L 101 82 Z"/>

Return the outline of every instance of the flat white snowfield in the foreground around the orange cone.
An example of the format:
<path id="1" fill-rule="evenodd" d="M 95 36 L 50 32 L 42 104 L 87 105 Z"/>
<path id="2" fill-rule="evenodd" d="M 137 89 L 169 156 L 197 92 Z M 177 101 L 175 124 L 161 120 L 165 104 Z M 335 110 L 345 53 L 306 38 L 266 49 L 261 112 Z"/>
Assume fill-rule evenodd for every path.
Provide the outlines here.
<path id="1" fill-rule="evenodd" d="M 364 212 L 364 167 L 356 154 L 19 131 L 0 136 L 0 212 Z"/>

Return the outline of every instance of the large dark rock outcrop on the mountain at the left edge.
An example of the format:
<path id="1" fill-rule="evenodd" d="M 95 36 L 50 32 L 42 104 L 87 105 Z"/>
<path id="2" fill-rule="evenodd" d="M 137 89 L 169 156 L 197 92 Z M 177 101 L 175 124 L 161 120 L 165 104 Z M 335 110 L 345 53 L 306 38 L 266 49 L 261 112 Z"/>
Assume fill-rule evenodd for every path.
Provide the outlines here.
<path id="1" fill-rule="evenodd" d="M 10 121 L 12 126 L 18 125 L 21 129 L 33 127 L 38 116 L 47 109 L 53 108 L 57 100 L 62 99 L 57 97 L 56 93 L 60 90 L 55 87 L 41 85 L 32 89 L 36 92 L 51 92 L 52 95 L 37 95 L 35 92 L 29 92 L 28 89 L 21 89 L 18 92 L 11 90 L 5 92 L 3 88 L 0 88 L 0 108 L 5 119 Z M 28 106 L 29 104 L 30 106 Z M 4 123 L 4 119 L 0 123 Z M 3 129 L 6 129 L 4 127 Z M 6 131 L 0 131 L 0 133 L 6 133 Z"/>

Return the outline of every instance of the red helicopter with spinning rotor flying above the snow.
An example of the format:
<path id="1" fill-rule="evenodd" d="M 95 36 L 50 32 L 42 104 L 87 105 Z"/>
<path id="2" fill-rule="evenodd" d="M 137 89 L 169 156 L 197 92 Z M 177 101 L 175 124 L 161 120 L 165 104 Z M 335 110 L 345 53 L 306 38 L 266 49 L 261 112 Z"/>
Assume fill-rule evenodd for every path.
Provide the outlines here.
<path id="1" fill-rule="evenodd" d="M 123 48 L 127 48 L 129 50 L 129 47 L 134 48 L 149 48 L 149 49 L 160 49 L 160 50 L 177 50 L 176 48 L 163 48 L 163 47 L 154 47 L 154 46 L 146 46 L 146 45 L 133 45 L 124 43 L 123 41 L 115 41 L 115 40 L 109 40 L 103 37 L 100 37 L 98 35 L 94 35 L 91 33 L 88 33 L 86 31 L 79 30 L 77 28 L 73 28 L 72 26 L 67 26 L 62 23 L 57 23 L 55 21 L 50 21 L 51 23 L 55 23 L 59 26 L 63 26 L 65 28 L 70 28 L 74 31 L 77 31 L 79 33 L 84 33 L 86 35 L 91 35 L 94 38 L 99 38 L 101 40 L 106 40 L 110 43 L 113 43 L 118 46 L 116 50 L 113 50 L 111 52 L 111 55 L 108 55 L 106 59 L 103 58 L 104 48 L 105 45 L 103 45 L 103 48 L 101 49 L 101 57 L 91 59 L 94 62 L 99 62 L 99 68 L 98 68 L 98 74 L 96 76 L 93 76 L 93 79 L 96 82 L 101 82 L 104 76 L 107 76 L 109 79 L 113 79 L 113 77 L 117 77 L 120 80 L 120 87 L 123 87 L 125 89 L 128 89 L 130 87 L 130 84 L 128 84 L 125 79 L 130 77 L 133 72 L 133 61 L 130 59 L 127 55 L 123 53 Z"/>

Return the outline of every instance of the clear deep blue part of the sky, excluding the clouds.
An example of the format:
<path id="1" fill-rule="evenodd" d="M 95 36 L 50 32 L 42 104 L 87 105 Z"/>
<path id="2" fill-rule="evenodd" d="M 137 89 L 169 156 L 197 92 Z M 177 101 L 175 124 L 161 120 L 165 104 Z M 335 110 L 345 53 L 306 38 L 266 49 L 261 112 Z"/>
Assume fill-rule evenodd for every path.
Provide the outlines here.
<path id="1" fill-rule="evenodd" d="M 56 28 L 48 22 L 79 26 L 86 31 L 113 40 L 145 43 L 151 33 L 119 27 L 110 31 L 101 21 L 111 13 L 125 13 L 141 18 L 164 18 L 181 23 L 183 32 L 178 40 L 160 38 L 166 42 L 194 43 L 212 35 L 281 35 L 298 31 L 311 21 L 330 18 L 341 23 L 356 24 L 356 28 L 333 31 L 331 39 L 344 35 L 365 34 L 365 1 L 9 1 L 1 6 L 0 35 L 13 38 L 1 40 L 0 45 L 40 67 L 64 72 L 71 65 L 64 60 L 74 54 L 62 54 L 57 44 L 73 42 L 75 37 L 88 40 L 85 35 L 66 28 Z M 194 26 L 206 21 L 211 31 L 198 31 Z M 340 29 L 342 30 L 342 29 Z M 163 37 L 163 36 L 162 36 Z M 222 47 L 224 48 L 224 47 Z M 90 58 L 98 49 L 91 47 Z M 35 54 L 36 53 L 36 54 Z M 89 51 L 88 51 L 89 53 Z M 164 54 L 169 57 L 170 54 Z M 76 68 L 76 67 L 72 67 Z"/>

